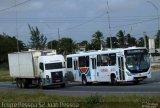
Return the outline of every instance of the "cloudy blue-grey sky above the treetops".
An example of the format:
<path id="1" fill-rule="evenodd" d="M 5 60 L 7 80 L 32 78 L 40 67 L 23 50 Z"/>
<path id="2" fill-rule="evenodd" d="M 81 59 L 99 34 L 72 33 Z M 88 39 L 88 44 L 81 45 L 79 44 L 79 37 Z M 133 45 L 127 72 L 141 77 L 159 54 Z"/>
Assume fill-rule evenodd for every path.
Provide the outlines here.
<path id="1" fill-rule="evenodd" d="M 69 37 L 90 41 L 97 31 L 104 38 L 119 30 L 139 38 L 153 37 L 160 20 L 160 0 L 0 0 L 0 34 L 28 44 L 28 24 L 38 27 L 48 41 Z M 109 28 L 110 25 L 110 28 Z"/>

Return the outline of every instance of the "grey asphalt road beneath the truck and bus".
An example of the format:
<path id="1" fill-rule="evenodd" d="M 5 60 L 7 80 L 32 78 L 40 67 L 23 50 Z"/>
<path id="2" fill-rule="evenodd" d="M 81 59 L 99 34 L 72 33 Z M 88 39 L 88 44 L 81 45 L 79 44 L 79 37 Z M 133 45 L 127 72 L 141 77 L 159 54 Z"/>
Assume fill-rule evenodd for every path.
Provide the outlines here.
<path id="1" fill-rule="evenodd" d="M 93 84 L 82 86 L 81 83 L 69 83 L 66 88 L 59 86 L 51 87 L 45 90 L 31 87 L 20 89 L 12 82 L 0 82 L 0 93 L 45 93 L 48 95 L 65 95 L 65 96 L 88 96 L 94 93 L 101 95 L 143 95 L 143 96 L 160 96 L 160 71 L 152 72 L 152 78 L 145 80 L 138 85 L 125 83 L 119 86 L 110 84 Z"/>

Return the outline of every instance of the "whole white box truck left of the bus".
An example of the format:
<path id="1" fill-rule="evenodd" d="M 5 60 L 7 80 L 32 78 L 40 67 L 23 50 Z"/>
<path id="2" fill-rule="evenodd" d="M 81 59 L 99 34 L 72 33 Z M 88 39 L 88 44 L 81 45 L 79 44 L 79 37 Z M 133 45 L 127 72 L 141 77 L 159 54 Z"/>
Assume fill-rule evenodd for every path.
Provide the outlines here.
<path id="1" fill-rule="evenodd" d="M 38 85 L 41 88 L 52 85 L 65 87 L 65 59 L 62 55 L 43 55 L 40 51 L 8 54 L 10 76 L 17 87 Z"/>

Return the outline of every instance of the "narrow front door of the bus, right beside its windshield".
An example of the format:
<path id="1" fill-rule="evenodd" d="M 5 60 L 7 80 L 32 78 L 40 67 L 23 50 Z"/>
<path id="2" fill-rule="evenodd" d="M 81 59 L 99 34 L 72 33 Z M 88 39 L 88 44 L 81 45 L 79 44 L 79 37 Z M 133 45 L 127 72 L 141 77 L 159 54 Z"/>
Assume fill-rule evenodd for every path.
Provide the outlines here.
<path id="1" fill-rule="evenodd" d="M 119 79 L 120 80 L 125 80 L 124 59 L 123 59 L 123 57 L 118 57 L 118 68 L 119 68 Z"/>

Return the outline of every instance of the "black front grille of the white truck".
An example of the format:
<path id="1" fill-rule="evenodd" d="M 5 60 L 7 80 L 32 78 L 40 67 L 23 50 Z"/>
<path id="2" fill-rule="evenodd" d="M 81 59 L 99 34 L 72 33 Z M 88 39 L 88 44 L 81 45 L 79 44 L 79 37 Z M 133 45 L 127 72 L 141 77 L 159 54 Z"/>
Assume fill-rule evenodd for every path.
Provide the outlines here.
<path id="1" fill-rule="evenodd" d="M 52 72 L 52 83 L 59 83 L 63 81 L 63 73 L 62 71 Z"/>

